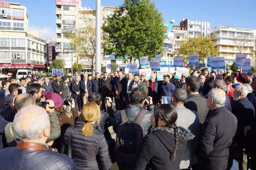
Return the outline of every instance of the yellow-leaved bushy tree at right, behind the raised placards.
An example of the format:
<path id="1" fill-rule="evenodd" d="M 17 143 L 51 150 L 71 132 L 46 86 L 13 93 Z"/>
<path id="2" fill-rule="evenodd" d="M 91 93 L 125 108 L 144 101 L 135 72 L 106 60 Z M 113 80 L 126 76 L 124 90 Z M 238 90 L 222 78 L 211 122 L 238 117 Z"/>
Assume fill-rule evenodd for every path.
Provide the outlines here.
<path id="1" fill-rule="evenodd" d="M 199 61 L 206 59 L 208 55 L 218 56 L 219 51 L 215 47 L 214 37 L 197 36 L 183 41 L 178 52 L 172 56 L 183 57 L 183 61 L 188 63 L 188 55 L 199 54 Z"/>

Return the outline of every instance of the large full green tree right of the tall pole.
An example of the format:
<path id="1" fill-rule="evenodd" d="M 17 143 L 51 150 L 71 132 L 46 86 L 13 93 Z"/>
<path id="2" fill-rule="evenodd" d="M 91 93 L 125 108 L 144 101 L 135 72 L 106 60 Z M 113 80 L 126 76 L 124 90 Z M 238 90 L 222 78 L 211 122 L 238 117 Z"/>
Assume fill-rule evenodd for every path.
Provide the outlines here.
<path id="1" fill-rule="evenodd" d="M 162 52 L 166 26 L 162 14 L 150 0 L 124 0 L 107 19 L 102 29 L 107 33 L 105 51 L 116 58 L 132 60 Z"/>

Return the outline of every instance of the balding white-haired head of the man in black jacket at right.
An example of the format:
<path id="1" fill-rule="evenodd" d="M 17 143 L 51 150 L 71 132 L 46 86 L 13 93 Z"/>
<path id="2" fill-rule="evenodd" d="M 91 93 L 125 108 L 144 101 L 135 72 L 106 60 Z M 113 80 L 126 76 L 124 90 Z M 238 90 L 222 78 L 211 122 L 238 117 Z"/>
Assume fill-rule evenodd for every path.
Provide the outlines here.
<path id="1" fill-rule="evenodd" d="M 208 98 L 206 100 L 207 106 L 210 110 L 216 109 L 218 107 L 225 106 L 226 96 L 225 92 L 219 88 L 213 88 L 208 93 Z"/>

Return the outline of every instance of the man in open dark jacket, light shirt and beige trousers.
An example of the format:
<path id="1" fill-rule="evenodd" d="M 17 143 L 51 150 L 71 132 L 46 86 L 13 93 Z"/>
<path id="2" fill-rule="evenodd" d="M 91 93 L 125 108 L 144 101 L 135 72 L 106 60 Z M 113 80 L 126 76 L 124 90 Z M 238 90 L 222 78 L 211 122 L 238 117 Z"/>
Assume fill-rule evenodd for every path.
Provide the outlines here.
<path id="1" fill-rule="evenodd" d="M 87 103 L 88 96 L 92 94 L 92 82 L 88 80 L 88 74 L 84 74 L 84 80 L 80 81 L 81 103 Z"/>

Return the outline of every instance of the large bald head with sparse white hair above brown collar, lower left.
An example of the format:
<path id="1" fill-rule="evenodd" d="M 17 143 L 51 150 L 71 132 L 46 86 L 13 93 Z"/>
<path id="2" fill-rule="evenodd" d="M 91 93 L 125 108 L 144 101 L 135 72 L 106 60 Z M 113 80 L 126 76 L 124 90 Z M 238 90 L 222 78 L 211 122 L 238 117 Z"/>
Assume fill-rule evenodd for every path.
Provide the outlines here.
<path id="1" fill-rule="evenodd" d="M 46 127 L 50 127 L 49 116 L 42 109 L 36 109 L 39 106 L 28 106 L 15 115 L 12 126 L 21 141 L 24 139 L 40 139 L 42 137 L 42 131 Z M 36 111 L 34 111 L 36 110 Z M 34 111 L 33 113 L 31 113 Z M 20 127 L 24 121 L 29 122 L 27 127 Z"/>

